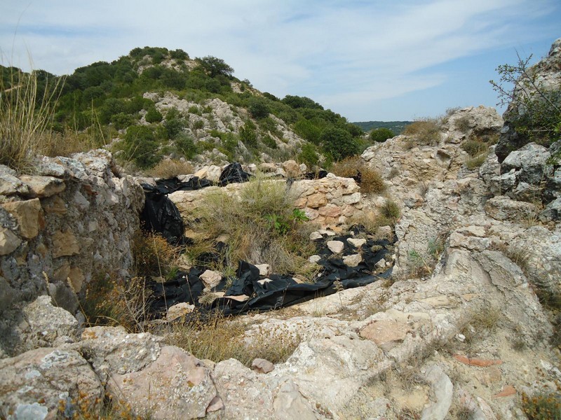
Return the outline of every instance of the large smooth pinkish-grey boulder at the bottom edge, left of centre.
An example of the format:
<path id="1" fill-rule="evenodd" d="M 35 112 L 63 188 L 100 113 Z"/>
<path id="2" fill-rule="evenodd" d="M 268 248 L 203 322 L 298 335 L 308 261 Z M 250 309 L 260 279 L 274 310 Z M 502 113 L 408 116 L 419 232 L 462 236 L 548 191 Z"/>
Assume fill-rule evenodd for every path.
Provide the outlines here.
<path id="1" fill-rule="evenodd" d="M 154 362 L 137 372 L 111 374 L 107 391 L 152 419 L 196 419 L 216 409 L 217 391 L 210 370 L 191 354 L 164 346 Z"/>

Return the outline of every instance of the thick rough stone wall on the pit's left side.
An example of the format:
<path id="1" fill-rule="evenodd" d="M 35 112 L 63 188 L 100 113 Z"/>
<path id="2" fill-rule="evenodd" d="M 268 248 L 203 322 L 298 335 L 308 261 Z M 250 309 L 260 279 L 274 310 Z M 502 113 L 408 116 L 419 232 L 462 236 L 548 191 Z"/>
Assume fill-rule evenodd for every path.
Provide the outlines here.
<path id="1" fill-rule="evenodd" d="M 14 330 L 23 304 L 48 293 L 74 314 L 88 281 L 130 267 L 144 192 L 101 149 L 43 158 L 35 175 L 0 167 L 0 190 L 0 288 L 11 296 L 0 307 L 5 357 L 25 349 Z"/>

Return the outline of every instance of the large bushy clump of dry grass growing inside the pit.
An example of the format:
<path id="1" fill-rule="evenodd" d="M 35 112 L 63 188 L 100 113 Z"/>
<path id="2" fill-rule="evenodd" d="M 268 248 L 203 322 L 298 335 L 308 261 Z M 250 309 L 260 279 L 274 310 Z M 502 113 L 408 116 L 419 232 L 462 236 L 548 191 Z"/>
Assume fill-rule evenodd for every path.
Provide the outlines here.
<path id="1" fill-rule="evenodd" d="M 207 232 L 210 238 L 227 237 L 226 266 L 235 269 L 239 260 L 245 260 L 269 264 L 278 274 L 307 271 L 307 258 L 315 252 L 309 241 L 314 227 L 297 217 L 294 197 L 286 192 L 284 183 L 257 176 L 236 197 L 217 190 L 204 200 L 194 230 Z M 209 242 L 213 243 L 202 239 L 195 246 L 204 249 Z"/>

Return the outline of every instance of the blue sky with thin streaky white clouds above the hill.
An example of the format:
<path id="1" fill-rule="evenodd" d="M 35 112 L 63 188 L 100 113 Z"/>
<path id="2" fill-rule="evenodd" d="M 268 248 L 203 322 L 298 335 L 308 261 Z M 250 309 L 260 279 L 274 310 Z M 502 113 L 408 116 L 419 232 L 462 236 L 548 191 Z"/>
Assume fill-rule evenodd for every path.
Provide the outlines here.
<path id="1" fill-rule="evenodd" d="M 496 106 L 496 67 L 517 52 L 536 62 L 561 37 L 559 0 L 0 0 L 0 10 L 0 64 L 62 75 L 136 47 L 181 48 L 349 121 Z"/>

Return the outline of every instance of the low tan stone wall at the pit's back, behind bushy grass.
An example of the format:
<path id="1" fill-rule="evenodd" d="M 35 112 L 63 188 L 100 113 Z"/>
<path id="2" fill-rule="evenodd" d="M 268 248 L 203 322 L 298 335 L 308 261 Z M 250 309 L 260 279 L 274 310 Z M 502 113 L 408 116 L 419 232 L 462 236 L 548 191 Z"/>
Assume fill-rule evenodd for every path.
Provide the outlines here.
<path id="1" fill-rule="evenodd" d="M 266 182 L 286 184 L 284 180 Z M 232 183 L 224 187 L 227 194 L 238 193 L 246 184 Z M 185 221 L 192 221 L 198 209 L 204 205 L 204 197 L 217 192 L 219 187 L 208 187 L 195 191 L 176 191 L 170 200 L 180 210 Z M 295 207 L 303 209 L 314 223 L 334 228 L 344 223 L 346 218 L 358 215 L 363 209 L 360 187 L 351 178 L 341 178 L 327 174 L 323 179 L 294 181 L 290 193 L 295 197 Z"/>

